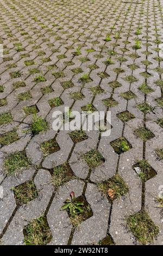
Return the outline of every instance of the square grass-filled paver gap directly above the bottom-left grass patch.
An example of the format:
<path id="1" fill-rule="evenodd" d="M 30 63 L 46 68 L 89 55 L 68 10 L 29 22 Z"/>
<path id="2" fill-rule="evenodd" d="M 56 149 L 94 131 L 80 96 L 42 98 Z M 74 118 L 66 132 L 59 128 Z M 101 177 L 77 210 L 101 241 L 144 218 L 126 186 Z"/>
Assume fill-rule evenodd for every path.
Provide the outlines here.
<path id="1" fill-rule="evenodd" d="M 27 204 L 38 196 L 36 186 L 32 180 L 13 187 L 12 191 L 14 191 L 14 197 L 17 205 Z"/>

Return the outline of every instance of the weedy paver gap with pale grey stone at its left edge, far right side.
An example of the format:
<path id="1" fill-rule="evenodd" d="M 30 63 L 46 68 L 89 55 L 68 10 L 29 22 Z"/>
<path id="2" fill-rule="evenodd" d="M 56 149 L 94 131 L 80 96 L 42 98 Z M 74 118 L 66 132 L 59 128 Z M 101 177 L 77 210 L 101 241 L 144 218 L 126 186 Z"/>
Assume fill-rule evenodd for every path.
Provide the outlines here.
<path id="1" fill-rule="evenodd" d="M 133 166 L 134 170 L 137 170 L 137 168 L 139 168 L 139 172 L 136 171 L 136 173 L 140 176 L 142 181 L 147 181 L 156 175 L 155 170 L 149 165 L 149 163 L 145 159 L 137 162 Z"/>

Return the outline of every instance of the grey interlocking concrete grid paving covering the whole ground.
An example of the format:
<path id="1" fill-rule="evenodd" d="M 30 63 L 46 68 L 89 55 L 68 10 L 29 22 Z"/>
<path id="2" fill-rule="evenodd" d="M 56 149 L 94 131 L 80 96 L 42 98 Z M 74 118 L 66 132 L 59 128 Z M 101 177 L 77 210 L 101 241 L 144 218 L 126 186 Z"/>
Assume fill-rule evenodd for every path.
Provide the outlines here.
<path id="1" fill-rule="evenodd" d="M 157 198 L 163 185 L 158 153 L 163 148 L 163 1 L 1 0 L 0 7 L 1 243 L 23 244 L 27 224 L 44 216 L 51 233 L 46 243 L 52 245 L 95 245 L 105 237 L 116 245 L 135 245 L 141 240 L 127 219 L 146 212 L 159 228 L 151 243 L 161 245 Z M 84 74 L 89 80 L 81 82 Z M 37 76 L 41 78 L 35 81 Z M 56 98 L 58 103 L 49 101 Z M 52 114 L 65 106 L 80 112 L 83 106 L 111 111 L 111 135 L 90 131 L 74 143 L 67 131 L 53 131 Z M 33 113 L 48 122 L 48 130 L 28 132 Z M 129 144 L 122 143 L 117 154 L 112 142 L 120 137 Z M 45 153 L 42 143 L 53 138 L 55 150 Z M 84 160 L 83 154 L 90 151 L 94 163 L 98 152 L 97 164 Z M 147 177 L 137 164 L 141 160 L 148 162 Z M 9 172 L 9 166 L 20 162 L 21 170 L 14 167 Z M 53 168 L 64 163 L 73 176 L 57 188 Z M 128 187 L 118 198 L 112 197 L 114 189 L 104 194 L 97 185 L 115 174 Z M 29 182 L 33 187 L 20 203 L 18 197 Z M 71 191 L 76 197 L 83 195 L 93 213 L 77 228 L 67 212 L 60 211 Z"/>

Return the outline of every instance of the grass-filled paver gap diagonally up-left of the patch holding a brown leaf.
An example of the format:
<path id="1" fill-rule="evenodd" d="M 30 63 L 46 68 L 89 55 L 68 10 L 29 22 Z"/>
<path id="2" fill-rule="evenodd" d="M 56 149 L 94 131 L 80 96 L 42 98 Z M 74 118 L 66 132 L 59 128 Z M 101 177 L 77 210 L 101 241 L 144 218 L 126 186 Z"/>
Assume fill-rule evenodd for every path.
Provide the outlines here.
<path id="1" fill-rule="evenodd" d="M 82 158 L 91 169 L 94 169 L 105 162 L 104 157 L 97 149 L 88 151 Z"/>

